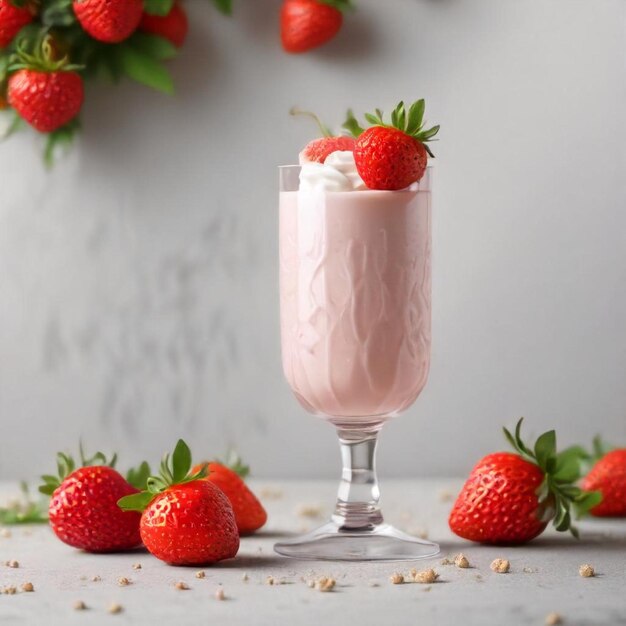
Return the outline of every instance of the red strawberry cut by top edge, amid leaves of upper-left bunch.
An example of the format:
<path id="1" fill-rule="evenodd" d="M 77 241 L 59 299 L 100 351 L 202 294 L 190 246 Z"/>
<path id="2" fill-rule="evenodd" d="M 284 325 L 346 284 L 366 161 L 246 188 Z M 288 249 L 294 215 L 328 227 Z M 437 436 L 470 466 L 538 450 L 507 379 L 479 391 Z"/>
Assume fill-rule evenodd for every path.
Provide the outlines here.
<path id="1" fill-rule="evenodd" d="M 130 37 L 143 14 L 143 0 L 74 0 L 73 7 L 83 29 L 105 43 Z"/>

